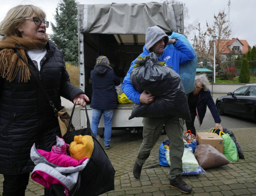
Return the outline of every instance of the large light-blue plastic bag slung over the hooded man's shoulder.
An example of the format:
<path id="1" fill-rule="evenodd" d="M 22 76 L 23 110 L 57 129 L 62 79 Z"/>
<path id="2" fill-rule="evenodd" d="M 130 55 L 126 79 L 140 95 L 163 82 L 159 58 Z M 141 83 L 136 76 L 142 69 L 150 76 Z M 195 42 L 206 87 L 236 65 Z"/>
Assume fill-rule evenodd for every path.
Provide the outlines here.
<path id="1" fill-rule="evenodd" d="M 195 58 L 192 61 L 180 64 L 179 66 L 179 75 L 181 77 L 185 93 L 188 94 L 194 90 L 197 66 L 196 51 L 194 50 L 190 42 L 187 40 L 187 38 L 180 33 L 172 32 L 172 35 L 170 35 L 169 38 L 176 38 L 178 40 L 181 40 L 186 46 L 188 46 L 192 50 L 193 54 L 195 55 Z M 173 48 L 177 50 L 172 44 L 167 45 L 166 48 Z"/>

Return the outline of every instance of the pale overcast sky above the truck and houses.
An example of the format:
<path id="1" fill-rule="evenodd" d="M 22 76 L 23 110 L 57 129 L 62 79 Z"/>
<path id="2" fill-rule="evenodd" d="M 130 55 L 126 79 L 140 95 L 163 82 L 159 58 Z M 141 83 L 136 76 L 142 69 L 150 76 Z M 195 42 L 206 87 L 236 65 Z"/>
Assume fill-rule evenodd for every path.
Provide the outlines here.
<path id="1" fill-rule="evenodd" d="M 217 15 L 220 10 L 225 9 L 228 12 L 228 0 L 179 0 L 185 3 L 188 8 L 188 15 L 190 16 L 189 23 L 201 23 L 204 25 L 206 21 L 210 24 L 213 22 L 214 14 Z M 53 15 L 55 15 L 55 8 L 57 7 L 58 0 L 10 0 L 4 1 L 0 6 L 0 21 L 5 17 L 7 11 L 20 4 L 33 4 L 41 7 L 47 15 L 47 20 L 55 22 Z M 78 0 L 80 4 L 98 4 L 98 3 L 146 3 L 150 0 Z M 161 2 L 160 0 L 154 2 Z M 232 22 L 232 37 L 247 40 L 252 47 L 256 45 L 256 25 L 255 25 L 255 7 L 256 0 L 247 0 L 243 3 L 241 0 L 231 0 L 230 6 L 230 21 Z M 51 33 L 51 27 L 47 29 L 48 33 Z"/>

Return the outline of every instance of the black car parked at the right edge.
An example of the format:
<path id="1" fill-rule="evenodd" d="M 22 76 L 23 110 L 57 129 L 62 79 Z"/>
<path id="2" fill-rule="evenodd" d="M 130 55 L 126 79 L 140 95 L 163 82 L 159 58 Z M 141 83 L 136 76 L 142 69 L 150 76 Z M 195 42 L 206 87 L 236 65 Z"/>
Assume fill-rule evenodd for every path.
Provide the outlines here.
<path id="1" fill-rule="evenodd" d="M 256 120 L 256 84 L 246 84 L 227 96 L 218 97 L 216 106 L 220 115 Z"/>

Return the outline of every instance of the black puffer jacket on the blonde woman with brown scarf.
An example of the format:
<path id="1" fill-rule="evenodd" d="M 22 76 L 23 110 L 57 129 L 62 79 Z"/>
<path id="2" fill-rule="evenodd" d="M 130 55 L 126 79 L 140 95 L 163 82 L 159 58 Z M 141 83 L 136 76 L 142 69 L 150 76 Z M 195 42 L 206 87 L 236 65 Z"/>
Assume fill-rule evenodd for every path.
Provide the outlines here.
<path id="1" fill-rule="evenodd" d="M 61 109 L 60 96 L 73 101 L 83 93 L 70 83 L 63 55 L 52 41 L 46 45 L 47 54 L 37 75 L 55 104 Z M 53 108 L 38 86 L 33 75 L 27 83 L 18 82 L 19 74 L 12 82 L 0 77 L 0 173 L 21 174 L 31 172 L 34 163 L 30 159 L 33 143 L 36 148 L 50 151 L 61 136 Z"/>

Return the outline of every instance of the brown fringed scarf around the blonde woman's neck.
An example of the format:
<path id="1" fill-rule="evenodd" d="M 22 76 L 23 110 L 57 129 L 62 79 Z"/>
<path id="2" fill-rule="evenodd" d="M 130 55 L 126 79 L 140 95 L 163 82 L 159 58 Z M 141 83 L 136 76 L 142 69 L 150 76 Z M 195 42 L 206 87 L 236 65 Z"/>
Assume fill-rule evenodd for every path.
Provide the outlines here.
<path id="1" fill-rule="evenodd" d="M 46 34 L 45 40 L 24 39 L 14 35 L 0 39 L 0 76 L 8 81 L 13 81 L 19 73 L 19 82 L 27 82 L 30 79 L 30 72 L 27 65 L 14 52 L 16 49 L 21 56 L 28 62 L 25 50 L 43 49 L 48 41 Z"/>

